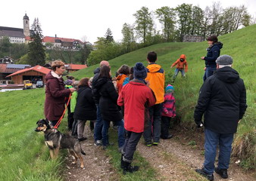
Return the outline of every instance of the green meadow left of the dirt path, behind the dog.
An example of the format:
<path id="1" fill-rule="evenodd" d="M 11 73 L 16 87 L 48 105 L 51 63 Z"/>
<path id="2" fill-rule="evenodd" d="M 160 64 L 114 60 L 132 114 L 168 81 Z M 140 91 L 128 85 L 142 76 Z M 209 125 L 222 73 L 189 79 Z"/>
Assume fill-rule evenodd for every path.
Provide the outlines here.
<path id="1" fill-rule="evenodd" d="M 49 158 L 43 134 L 35 132 L 44 118 L 44 89 L 0 93 L 0 180 L 62 180 Z"/>

